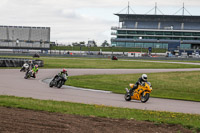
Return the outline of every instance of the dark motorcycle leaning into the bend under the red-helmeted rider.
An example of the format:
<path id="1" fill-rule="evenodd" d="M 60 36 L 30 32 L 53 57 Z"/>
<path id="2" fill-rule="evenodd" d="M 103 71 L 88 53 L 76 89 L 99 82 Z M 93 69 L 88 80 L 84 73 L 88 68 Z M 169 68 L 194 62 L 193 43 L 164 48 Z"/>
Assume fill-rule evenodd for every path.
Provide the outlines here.
<path id="1" fill-rule="evenodd" d="M 57 87 L 57 88 L 61 88 L 65 82 L 67 81 L 67 77 L 66 77 L 66 80 L 63 79 L 63 77 L 56 77 L 54 79 L 51 80 L 51 82 L 49 83 L 49 87 Z"/>

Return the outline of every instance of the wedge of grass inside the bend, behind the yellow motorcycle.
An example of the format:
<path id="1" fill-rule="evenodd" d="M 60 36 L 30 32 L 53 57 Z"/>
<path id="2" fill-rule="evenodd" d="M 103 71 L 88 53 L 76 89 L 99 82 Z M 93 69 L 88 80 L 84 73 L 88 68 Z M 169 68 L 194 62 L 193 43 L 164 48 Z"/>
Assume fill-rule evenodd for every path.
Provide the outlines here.
<path id="1" fill-rule="evenodd" d="M 67 85 L 125 93 L 129 83 L 135 83 L 141 74 L 71 76 Z M 152 97 L 200 101 L 200 72 L 149 73 L 153 86 Z"/>

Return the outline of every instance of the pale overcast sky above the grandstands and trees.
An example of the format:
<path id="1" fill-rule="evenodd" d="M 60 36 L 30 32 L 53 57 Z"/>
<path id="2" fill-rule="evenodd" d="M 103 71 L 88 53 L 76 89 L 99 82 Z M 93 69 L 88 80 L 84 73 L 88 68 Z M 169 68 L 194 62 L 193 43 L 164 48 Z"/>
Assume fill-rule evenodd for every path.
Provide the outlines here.
<path id="1" fill-rule="evenodd" d="M 200 0 L 129 0 L 136 14 L 146 14 L 156 2 L 164 14 L 176 13 L 184 2 L 190 14 L 200 16 Z M 111 26 L 118 26 L 114 13 L 127 5 L 125 0 L 1 0 L 0 25 L 51 27 L 51 41 L 95 40 L 101 45 L 104 40 L 110 42 Z"/>

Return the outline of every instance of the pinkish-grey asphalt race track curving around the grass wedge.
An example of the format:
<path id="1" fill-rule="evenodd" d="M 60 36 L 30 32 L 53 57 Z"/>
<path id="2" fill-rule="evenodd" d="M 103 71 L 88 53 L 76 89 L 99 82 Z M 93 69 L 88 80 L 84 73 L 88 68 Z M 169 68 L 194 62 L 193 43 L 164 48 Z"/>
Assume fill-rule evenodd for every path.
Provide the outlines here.
<path id="1" fill-rule="evenodd" d="M 170 100 L 150 97 L 147 103 L 124 100 L 124 95 L 106 91 L 63 86 L 50 88 L 46 82 L 60 69 L 40 69 L 36 79 L 24 79 L 19 69 L 0 69 L 0 95 L 32 97 L 35 99 L 67 101 L 85 104 L 200 114 L 200 102 Z M 130 74 L 173 71 L 200 71 L 195 69 L 68 69 L 69 76 L 87 74 Z M 46 80 L 45 80 L 46 79 Z M 124 89 L 124 88 L 122 88 Z"/>

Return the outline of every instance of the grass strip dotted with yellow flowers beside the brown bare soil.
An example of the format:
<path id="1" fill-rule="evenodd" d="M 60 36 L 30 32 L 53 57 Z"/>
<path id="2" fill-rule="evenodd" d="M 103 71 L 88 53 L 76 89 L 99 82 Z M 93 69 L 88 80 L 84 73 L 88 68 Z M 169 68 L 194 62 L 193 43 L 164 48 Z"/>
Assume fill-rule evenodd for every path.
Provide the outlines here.
<path id="1" fill-rule="evenodd" d="M 82 116 L 96 116 L 119 119 L 151 121 L 157 124 L 181 124 L 184 127 L 200 130 L 200 115 L 147 111 L 128 108 L 87 105 L 52 100 L 37 100 L 14 96 L 0 96 L 0 106 L 30 109 L 37 111 L 59 112 Z"/>

